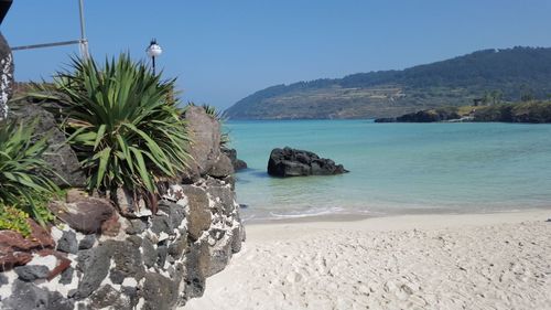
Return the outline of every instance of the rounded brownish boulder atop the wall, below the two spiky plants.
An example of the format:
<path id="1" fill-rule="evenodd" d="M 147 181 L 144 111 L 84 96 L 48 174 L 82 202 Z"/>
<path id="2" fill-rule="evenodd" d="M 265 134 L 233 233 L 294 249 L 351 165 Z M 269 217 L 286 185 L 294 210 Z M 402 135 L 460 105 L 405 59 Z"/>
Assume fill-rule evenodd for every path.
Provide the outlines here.
<path id="1" fill-rule="evenodd" d="M 108 200 L 85 197 L 74 203 L 52 202 L 48 209 L 73 229 L 83 234 L 101 233 L 101 225 L 115 214 Z"/>

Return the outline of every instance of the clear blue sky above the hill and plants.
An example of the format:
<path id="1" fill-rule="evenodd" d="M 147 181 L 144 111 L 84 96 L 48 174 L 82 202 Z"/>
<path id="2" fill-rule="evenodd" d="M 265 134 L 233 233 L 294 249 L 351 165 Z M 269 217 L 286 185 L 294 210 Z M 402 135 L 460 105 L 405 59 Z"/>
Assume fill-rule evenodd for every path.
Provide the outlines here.
<path id="1" fill-rule="evenodd" d="M 401 70 L 483 49 L 551 46 L 549 0 L 84 0 L 97 60 L 128 52 L 177 77 L 183 101 L 227 108 L 262 88 Z M 76 40 L 78 0 L 15 0 L 11 46 Z M 15 79 L 48 79 L 76 45 L 15 51 Z"/>

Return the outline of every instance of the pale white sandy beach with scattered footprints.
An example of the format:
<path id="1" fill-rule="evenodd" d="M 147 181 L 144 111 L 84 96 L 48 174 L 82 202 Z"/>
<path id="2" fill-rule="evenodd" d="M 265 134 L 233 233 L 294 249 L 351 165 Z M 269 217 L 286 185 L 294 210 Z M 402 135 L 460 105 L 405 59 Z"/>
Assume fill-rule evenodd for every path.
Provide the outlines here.
<path id="1" fill-rule="evenodd" d="M 247 226 L 183 309 L 551 309 L 549 211 Z"/>

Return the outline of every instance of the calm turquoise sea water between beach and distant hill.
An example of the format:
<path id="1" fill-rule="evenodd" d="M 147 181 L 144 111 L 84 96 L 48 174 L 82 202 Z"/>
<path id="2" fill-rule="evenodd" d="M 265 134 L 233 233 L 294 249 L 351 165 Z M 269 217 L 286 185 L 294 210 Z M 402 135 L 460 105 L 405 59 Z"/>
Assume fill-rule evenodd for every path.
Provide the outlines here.
<path id="1" fill-rule="evenodd" d="M 320 214 L 551 209 L 551 125 L 228 121 L 249 169 L 237 195 L 249 221 Z M 270 151 L 292 147 L 350 173 L 270 178 Z"/>

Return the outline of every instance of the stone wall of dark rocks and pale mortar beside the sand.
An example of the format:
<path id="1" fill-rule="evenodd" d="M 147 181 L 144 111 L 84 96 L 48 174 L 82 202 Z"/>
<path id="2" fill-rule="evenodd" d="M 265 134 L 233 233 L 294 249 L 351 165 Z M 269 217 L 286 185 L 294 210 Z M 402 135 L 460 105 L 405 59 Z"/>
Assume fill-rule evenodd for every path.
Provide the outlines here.
<path id="1" fill-rule="evenodd" d="M 28 239 L 0 232 L 0 309 L 162 310 L 203 295 L 245 229 L 217 121 L 198 109 L 186 118 L 193 171 L 166 185 L 156 214 L 125 217 L 109 200 L 72 189 L 51 203 L 61 222 L 48 231 L 33 224 Z"/>

